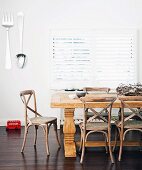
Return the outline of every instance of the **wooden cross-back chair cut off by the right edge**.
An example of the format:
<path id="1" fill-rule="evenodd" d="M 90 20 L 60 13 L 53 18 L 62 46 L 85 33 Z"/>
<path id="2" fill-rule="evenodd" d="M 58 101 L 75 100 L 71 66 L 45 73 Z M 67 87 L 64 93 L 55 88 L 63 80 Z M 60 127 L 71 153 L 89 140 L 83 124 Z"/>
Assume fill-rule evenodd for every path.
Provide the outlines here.
<path id="1" fill-rule="evenodd" d="M 121 161 L 122 147 L 125 136 L 130 131 L 142 132 L 142 96 L 122 96 L 119 97 L 121 101 L 120 120 L 115 122 L 118 129 L 118 135 L 120 138 L 120 148 L 118 160 Z M 139 103 L 139 107 L 136 107 L 135 103 Z M 130 104 L 131 103 L 131 104 Z M 125 109 L 129 109 L 128 115 L 125 114 Z M 136 119 L 136 117 L 138 119 Z M 115 145 L 117 143 L 117 135 L 115 135 Z"/>

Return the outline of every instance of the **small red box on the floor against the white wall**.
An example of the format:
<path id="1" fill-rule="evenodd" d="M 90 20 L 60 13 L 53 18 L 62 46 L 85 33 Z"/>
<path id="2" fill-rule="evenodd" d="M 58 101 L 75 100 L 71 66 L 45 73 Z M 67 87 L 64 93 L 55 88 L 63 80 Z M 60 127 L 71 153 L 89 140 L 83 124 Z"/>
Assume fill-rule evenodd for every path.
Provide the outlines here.
<path id="1" fill-rule="evenodd" d="M 8 120 L 6 130 L 9 129 L 21 129 L 21 121 L 20 120 Z"/>

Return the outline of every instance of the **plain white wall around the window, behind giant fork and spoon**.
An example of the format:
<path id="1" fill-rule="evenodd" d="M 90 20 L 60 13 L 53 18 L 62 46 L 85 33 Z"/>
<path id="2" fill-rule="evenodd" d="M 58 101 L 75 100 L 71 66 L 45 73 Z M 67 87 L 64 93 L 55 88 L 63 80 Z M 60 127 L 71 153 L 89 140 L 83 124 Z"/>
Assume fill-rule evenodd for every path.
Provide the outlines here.
<path id="1" fill-rule="evenodd" d="M 136 28 L 138 34 L 139 81 L 142 81 L 142 1 L 141 0 L 0 0 L 3 12 L 14 14 L 10 30 L 12 64 L 5 70 L 6 31 L 0 26 L 0 125 L 7 120 L 23 120 L 19 91 L 35 89 L 39 110 L 46 115 L 58 113 L 50 108 L 49 31 L 58 28 Z M 16 66 L 19 39 L 16 15 L 25 14 L 24 53 L 28 63 Z"/>

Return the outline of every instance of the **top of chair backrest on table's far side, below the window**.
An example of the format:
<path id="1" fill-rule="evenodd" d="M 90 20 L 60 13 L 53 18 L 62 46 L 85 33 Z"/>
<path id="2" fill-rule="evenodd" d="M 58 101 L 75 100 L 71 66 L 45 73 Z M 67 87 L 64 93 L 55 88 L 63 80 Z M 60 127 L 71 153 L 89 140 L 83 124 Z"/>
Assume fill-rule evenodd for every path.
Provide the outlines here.
<path id="1" fill-rule="evenodd" d="M 109 93 L 110 88 L 109 87 L 84 87 L 83 90 L 86 93 L 89 93 L 89 92 Z"/>

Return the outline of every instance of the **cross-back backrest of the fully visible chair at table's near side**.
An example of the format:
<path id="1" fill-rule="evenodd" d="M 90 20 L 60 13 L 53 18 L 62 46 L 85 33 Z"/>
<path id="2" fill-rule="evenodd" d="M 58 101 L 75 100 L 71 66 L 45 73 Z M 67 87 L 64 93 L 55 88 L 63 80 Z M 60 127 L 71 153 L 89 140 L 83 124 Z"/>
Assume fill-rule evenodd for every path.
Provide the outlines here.
<path id="1" fill-rule="evenodd" d="M 92 122 L 94 119 L 102 120 L 103 122 L 106 122 L 110 124 L 111 122 L 111 110 L 112 105 L 114 101 L 116 100 L 116 97 L 81 97 L 80 100 L 83 102 L 84 106 L 84 124 L 86 122 Z M 100 111 L 96 111 L 96 104 L 98 102 L 104 103 L 104 107 L 101 108 Z M 87 119 L 87 110 L 90 109 L 92 113 L 94 113 L 93 116 L 89 117 Z M 108 118 L 106 119 L 102 113 L 104 111 L 107 111 Z"/>

